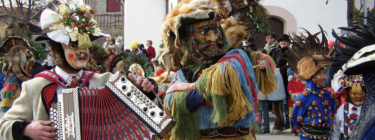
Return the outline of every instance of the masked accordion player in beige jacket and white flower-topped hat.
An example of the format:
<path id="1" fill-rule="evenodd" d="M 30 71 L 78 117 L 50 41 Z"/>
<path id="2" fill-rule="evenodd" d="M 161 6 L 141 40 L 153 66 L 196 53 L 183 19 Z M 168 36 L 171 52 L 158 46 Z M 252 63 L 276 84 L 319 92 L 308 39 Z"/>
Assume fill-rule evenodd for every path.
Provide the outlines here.
<path id="1" fill-rule="evenodd" d="M 87 48 L 91 47 L 91 41 L 109 35 L 100 32 L 97 22 L 92 19 L 92 10 L 86 5 L 70 0 L 61 3 L 58 11 L 47 8 L 42 12 L 40 25 L 52 31 L 36 38 L 36 41 L 48 41 L 56 67 L 22 84 L 21 96 L 0 120 L 0 134 L 4 139 L 55 139 L 57 129 L 51 127 L 49 109 L 51 103 L 62 100 L 57 94 L 62 94 L 66 88 L 103 87 L 113 75 L 83 71 L 89 61 Z M 129 77 L 144 91 L 154 88 L 148 79 Z"/>

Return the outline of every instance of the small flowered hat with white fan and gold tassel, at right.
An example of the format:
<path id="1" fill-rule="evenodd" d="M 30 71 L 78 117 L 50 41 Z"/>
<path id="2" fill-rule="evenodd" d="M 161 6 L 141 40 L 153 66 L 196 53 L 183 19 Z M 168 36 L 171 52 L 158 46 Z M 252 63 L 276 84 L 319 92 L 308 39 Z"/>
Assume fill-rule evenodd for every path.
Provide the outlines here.
<path id="1" fill-rule="evenodd" d="M 339 70 L 333 76 L 333 80 L 337 80 L 337 81 L 332 82 L 332 87 L 338 84 L 343 89 L 351 88 L 351 91 L 354 94 L 362 93 L 362 86 L 365 86 L 365 83 L 363 82 L 362 74 L 361 75 L 346 75 L 344 74 L 344 71 L 342 70 Z"/>

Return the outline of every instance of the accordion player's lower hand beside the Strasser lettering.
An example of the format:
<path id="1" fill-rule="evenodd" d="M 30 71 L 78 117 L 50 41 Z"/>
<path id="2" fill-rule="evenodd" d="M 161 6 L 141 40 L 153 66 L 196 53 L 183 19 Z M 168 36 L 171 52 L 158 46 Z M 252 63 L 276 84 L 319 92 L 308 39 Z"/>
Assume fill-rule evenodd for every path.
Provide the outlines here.
<path id="1" fill-rule="evenodd" d="M 51 127 L 52 121 L 36 121 L 26 125 L 22 135 L 33 140 L 54 140 L 57 128 Z"/>

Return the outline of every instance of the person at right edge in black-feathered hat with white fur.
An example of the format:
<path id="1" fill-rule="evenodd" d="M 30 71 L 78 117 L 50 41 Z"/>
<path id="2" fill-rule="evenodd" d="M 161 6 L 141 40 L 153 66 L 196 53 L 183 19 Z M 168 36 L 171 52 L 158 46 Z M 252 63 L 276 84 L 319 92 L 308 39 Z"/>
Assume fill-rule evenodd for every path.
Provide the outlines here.
<path id="1" fill-rule="evenodd" d="M 362 105 L 361 116 L 351 133 L 351 140 L 370 140 L 374 139 L 375 135 L 375 94 L 373 93 L 375 91 L 375 16 L 368 11 L 365 19 L 367 19 L 368 25 L 353 22 L 350 27 L 341 28 L 348 31 L 347 36 L 340 37 L 332 30 L 332 35 L 336 38 L 333 48 L 338 57 L 326 59 L 333 62 L 331 67 L 342 67 L 344 74 L 362 74 L 365 83 L 367 90 L 365 104 Z M 357 33 L 357 35 L 353 33 Z M 340 43 L 346 47 L 341 47 Z"/>

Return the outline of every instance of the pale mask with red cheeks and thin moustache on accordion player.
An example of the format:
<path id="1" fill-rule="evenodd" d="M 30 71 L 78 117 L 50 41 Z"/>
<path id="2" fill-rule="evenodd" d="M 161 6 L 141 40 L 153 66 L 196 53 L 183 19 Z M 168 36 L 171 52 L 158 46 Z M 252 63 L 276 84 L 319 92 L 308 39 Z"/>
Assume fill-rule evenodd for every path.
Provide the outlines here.
<path id="1" fill-rule="evenodd" d="M 68 45 L 62 44 L 66 61 L 74 69 L 83 69 L 89 62 L 90 52 L 87 48 L 79 48 L 78 44 L 69 43 Z"/>

